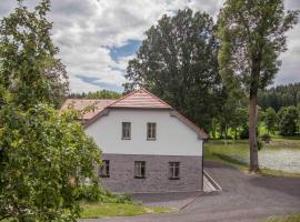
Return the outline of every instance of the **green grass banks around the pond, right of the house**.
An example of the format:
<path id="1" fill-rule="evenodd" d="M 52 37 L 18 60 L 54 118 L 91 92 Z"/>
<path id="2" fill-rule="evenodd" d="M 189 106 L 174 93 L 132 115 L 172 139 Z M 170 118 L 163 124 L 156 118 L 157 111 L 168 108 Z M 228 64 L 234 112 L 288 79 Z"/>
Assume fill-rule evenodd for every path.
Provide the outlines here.
<path id="1" fill-rule="evenodd" d="M 282 141 L 286 142 L 287 140 L 282 139 Z M 290 148 L 289 144 L 287 145 L 284 143 L 283 145 Z M 300 141 L 293 143 L 291 147 L 300 149 Z M 282 145 L 280 143 L 273 143 L 266 145 L 263 149 L 282 149 Z M 242 161 L 243 157 L 249 157 L 248 140 L 214 140 L 204 144 L 204 160 L 229 163 L 242 171 L 248 171 L 249 165 Z M 290 173 L 267 168 L 261 168 L 259 174 L 264 176 L 300 176 L 300 173 Z"/>

